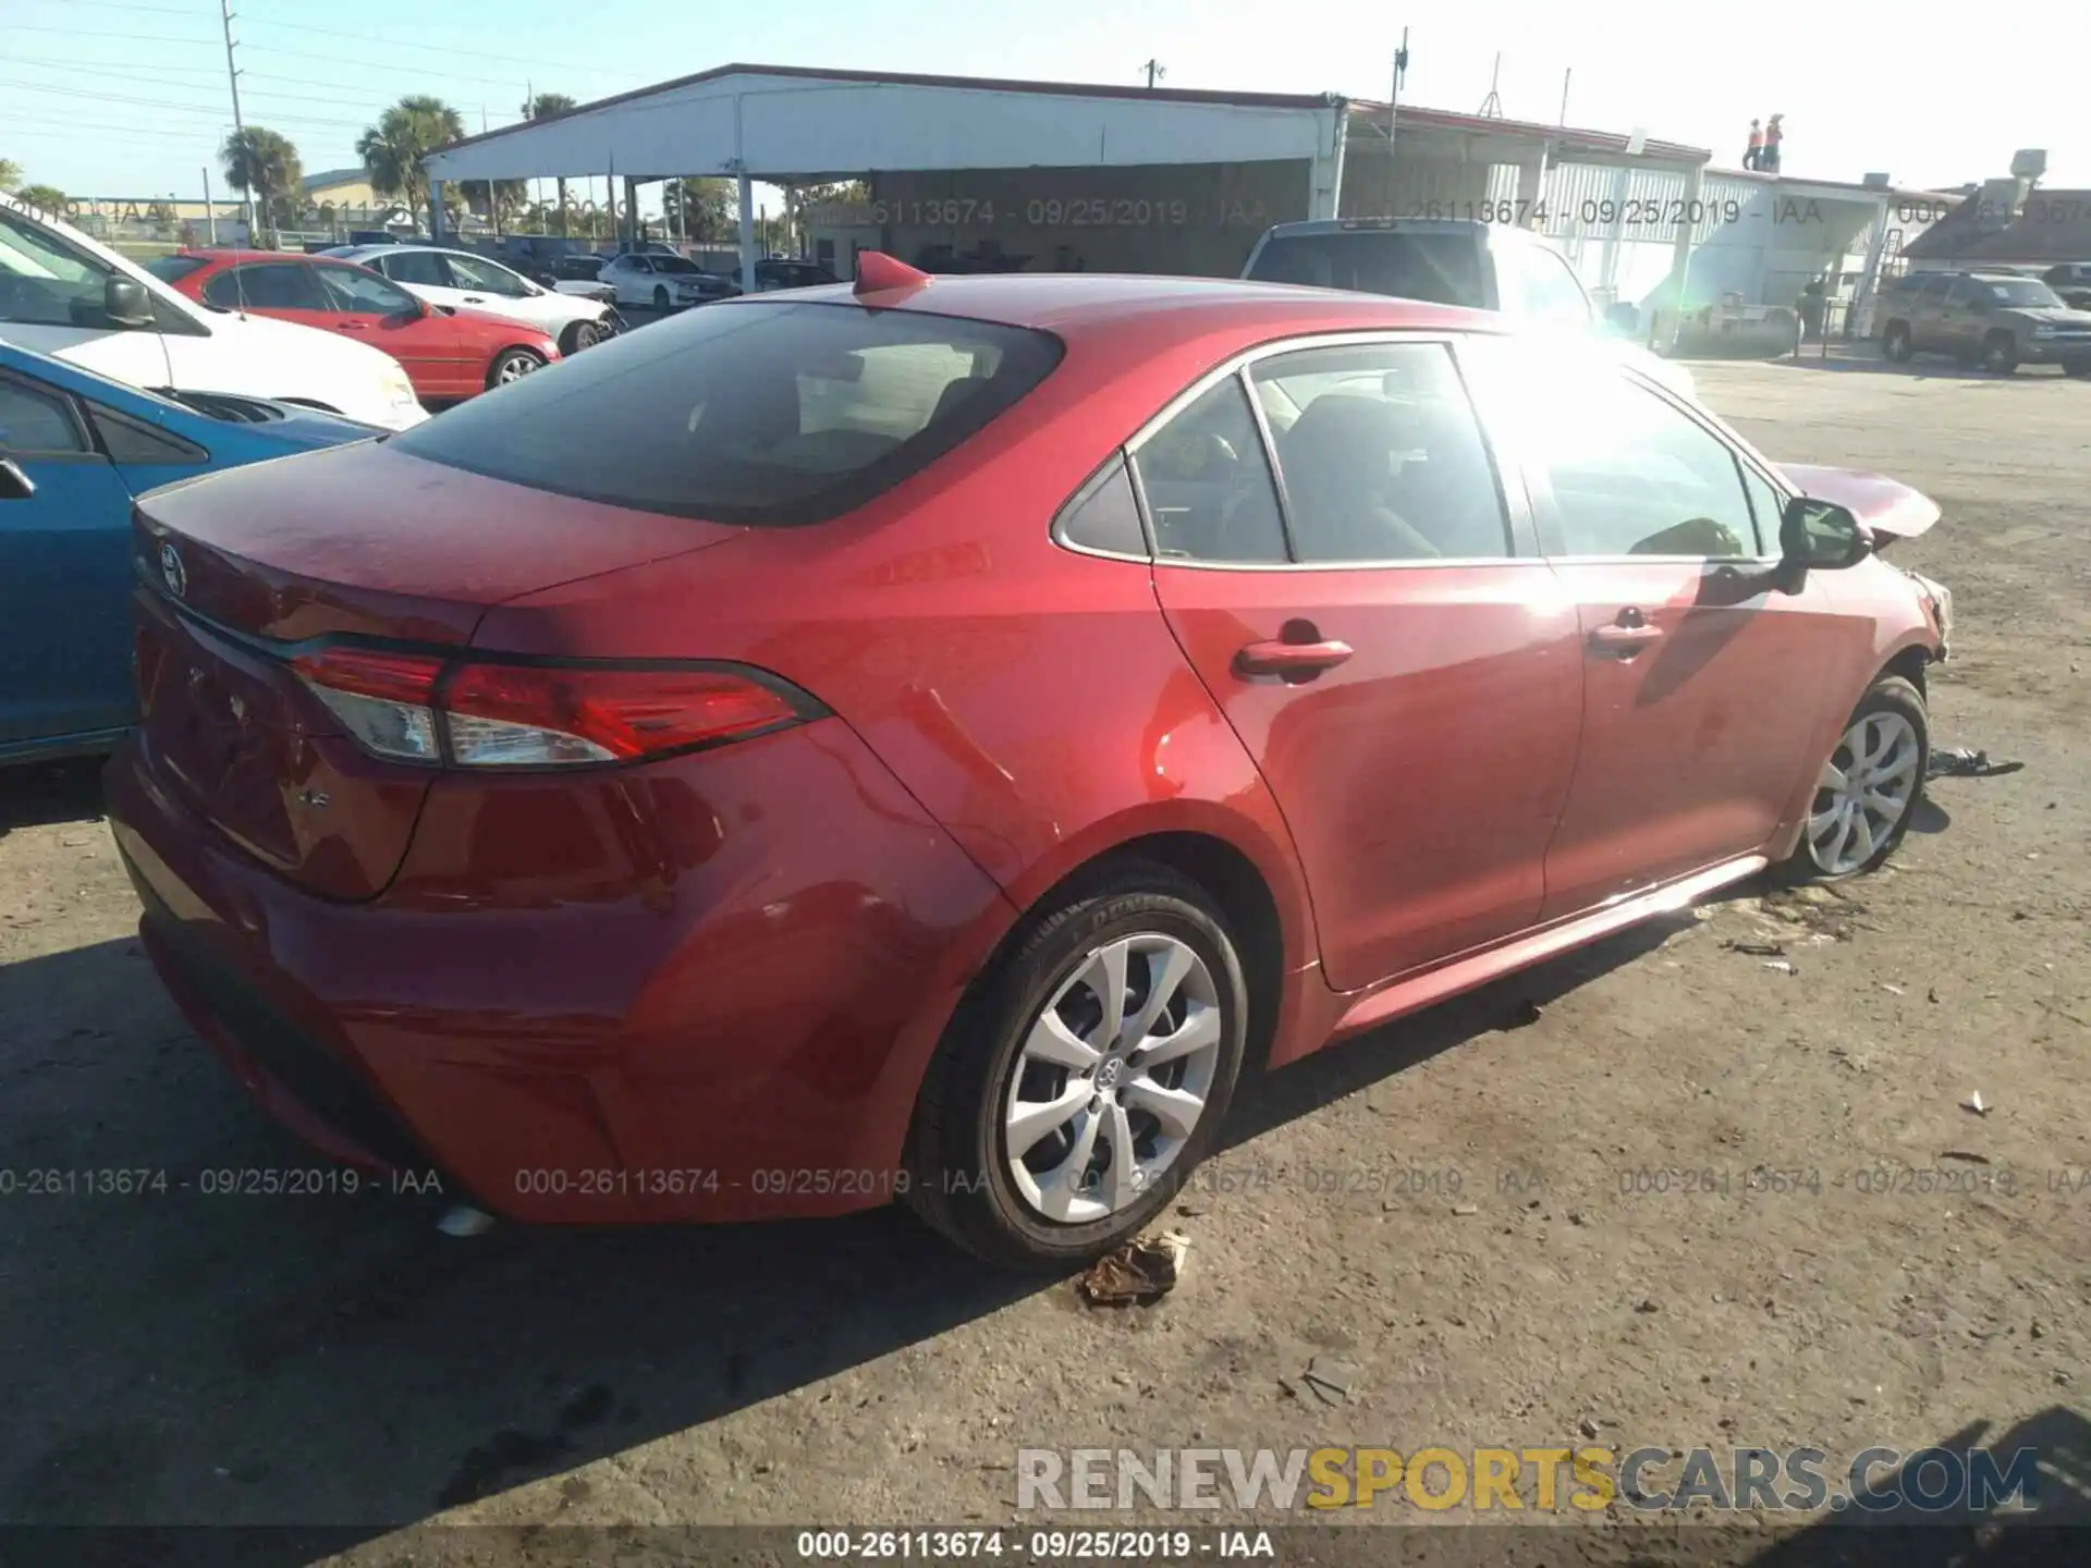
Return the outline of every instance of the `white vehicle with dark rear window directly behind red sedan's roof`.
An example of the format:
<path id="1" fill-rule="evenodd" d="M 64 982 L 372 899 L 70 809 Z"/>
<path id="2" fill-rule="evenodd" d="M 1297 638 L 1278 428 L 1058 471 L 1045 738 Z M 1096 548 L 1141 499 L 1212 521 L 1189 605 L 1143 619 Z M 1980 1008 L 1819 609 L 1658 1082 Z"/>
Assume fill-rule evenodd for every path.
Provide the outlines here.
<path id="1" fill-rule="evenodd" d="M 1257 240 L 1242 276 L 1501 312 L 1533 330 L 1602 339 L 1641 374 L 1694 395 L 1690 370 L 1631 343 L 1598 312 L 1560 251 L 1510 224 L 1449 217 L 1278 224 Z"/>

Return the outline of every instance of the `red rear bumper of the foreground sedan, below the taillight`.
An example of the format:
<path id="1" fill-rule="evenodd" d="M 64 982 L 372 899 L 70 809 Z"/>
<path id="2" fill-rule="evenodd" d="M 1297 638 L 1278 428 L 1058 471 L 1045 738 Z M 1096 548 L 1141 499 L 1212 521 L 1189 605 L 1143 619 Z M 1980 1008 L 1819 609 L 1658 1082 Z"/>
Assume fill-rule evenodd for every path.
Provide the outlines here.
<path id="1" fill-rule="evenodd" d="M 539 1223 L 895 1196 L 920 1041 L 1002 920 L 838 721 L 592 784 L 445 776 L 370 903 L 247 859 L 136 738 L 107 794 L 155 968 L 270 1112 Z"/>

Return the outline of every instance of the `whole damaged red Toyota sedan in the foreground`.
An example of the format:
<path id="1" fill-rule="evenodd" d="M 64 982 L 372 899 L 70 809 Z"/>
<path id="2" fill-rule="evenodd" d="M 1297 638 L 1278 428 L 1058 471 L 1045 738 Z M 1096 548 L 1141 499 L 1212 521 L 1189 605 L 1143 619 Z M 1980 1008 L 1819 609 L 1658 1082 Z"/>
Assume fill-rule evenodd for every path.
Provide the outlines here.
<path id="1" fill-rule="evenodd" d="M 1915 491 L 1485 314 L 859 266 L 144 500 L 115 838 L 320 1148 L 1066 1265 L 1244 1068 L 1909 826 Z"/>

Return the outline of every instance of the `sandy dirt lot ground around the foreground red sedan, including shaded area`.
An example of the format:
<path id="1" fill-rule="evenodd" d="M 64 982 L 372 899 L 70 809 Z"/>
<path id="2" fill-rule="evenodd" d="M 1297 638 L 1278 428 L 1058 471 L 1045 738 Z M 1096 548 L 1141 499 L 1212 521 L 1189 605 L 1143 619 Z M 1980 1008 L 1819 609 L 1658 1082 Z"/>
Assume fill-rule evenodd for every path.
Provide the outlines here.
<path id="1" fill-rule="evenodd" d="M 174 1187 L 0 1200 L 0 1520 L 332 1524 L 395 1562 L 433 1516 L 1008 1522 L 1016 1447 L 2016 1430 L 2083 1463 L 2091 383 L 1700 378 L 1773 456 L 1945 504 L 1907 548 L 1957 594 L 1936 734 L 2024 769 L 1938 782 L 1836 897 L 1744 889 L 1278 1075 L 1152 1309 L 981 1277 L 901 1215 L 460 1242 L 389 1196 L 205 1196 L 312 1160 L 153 983 L 92 776 L 8 782 L 0 1167 Z M 1796 974 L 1723 947 L 1767 935 Z M 1340 1405 L 1282 1386 L 1313 1357 Z"/>

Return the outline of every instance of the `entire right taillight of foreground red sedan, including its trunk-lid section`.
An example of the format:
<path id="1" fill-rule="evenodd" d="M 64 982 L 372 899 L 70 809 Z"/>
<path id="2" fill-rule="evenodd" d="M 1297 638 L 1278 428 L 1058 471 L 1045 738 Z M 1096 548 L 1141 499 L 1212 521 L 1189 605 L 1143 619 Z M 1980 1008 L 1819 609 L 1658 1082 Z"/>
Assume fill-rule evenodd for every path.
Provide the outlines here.
<path id="1" fill-rule="evenodd" d="M 458 767 L 623 763 L 803 717 L 732 669 L 450 665 L 368 648 L 301 654 L 293 669 L 381 757 Z"/>

